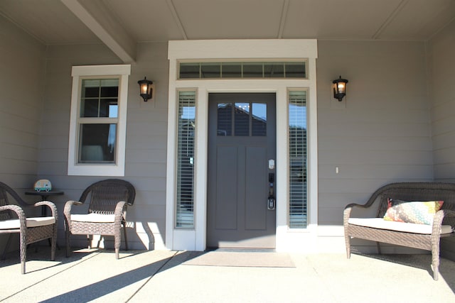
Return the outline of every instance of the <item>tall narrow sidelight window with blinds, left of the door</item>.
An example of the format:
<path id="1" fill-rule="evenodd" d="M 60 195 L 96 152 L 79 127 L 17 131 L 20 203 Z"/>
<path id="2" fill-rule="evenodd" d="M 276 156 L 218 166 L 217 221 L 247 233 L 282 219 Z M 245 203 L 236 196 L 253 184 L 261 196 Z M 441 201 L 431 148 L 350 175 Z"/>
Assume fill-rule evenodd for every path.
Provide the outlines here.
<path id="1" fill-rule="evenodd" d="M 196 92 L 178 92 L 176 227 L 194 228 Z"/>

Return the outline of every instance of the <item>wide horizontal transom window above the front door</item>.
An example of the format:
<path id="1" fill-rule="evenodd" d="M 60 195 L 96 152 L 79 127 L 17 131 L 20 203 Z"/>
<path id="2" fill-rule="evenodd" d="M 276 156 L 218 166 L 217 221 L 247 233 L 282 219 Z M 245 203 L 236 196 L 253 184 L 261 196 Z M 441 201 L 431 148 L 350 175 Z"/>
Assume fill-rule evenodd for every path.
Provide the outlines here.
<path id="1" fill-rule="evenodd" d="M 284 62 L 179 62 L 178 79 L 306 79 L 306 60 Z"/>

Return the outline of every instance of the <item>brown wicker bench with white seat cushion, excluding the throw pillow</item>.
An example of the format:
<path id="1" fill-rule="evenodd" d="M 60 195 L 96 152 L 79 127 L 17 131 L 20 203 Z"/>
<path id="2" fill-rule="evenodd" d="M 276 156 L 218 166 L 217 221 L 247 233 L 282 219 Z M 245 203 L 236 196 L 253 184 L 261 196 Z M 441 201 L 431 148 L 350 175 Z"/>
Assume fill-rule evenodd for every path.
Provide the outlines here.
<path id="1" fill-rule="evenodd" d="M 362 208 L 365 211 L 373 209 L 376 211 L 375 218 L 381 218 L 387 211 L 387 199 L 400 199 L 403 201 L 433 201 L 442 200 L 444 204 L 441 210 L 434 215 L 432 226 L 427 226 L 429 232 L 422 231 L 400 231 L 393 226 L 375 226 L 374 224 L 361 224 L 362 220 L 351 217 L 351 211 L 355 208 Z M 375 205 L 377 208 L 375 209 Z M 373 221 L 381 221 L 373 219 Z M 367 222 L 369 220 L 365 220 Z M 384 221 L 384 220 L 382 220 Z M 444 225 L 443 225 L 444 222 Z M 387 224 L 387 221 L 385 221 Z M 390 224 L 410 224 L 402 222 L 390 222 Z M 451 231 L 455 227 L 455 184 L 439 182 L 400 182 L 387 184 L 376 190 L 368 199 L 366 204 L 348 204 L 343 213 L 343 225 L 346 241 L 346 253 L 350 258 L 350 239 L 361 238 L 376 241 L 378 253 L 380 242 L 390 243 L 399 246 L 430 250 L 432 252 L 433 278 L 438 280 L 439 275 L 439 241 L 441 237 L 452 236 Z M 370 225 L 370 226 L 367 226 Z M 423 224 L 412 224 L 414 225 Z M 422 226 L 425 227 L 425 226 Z"/>

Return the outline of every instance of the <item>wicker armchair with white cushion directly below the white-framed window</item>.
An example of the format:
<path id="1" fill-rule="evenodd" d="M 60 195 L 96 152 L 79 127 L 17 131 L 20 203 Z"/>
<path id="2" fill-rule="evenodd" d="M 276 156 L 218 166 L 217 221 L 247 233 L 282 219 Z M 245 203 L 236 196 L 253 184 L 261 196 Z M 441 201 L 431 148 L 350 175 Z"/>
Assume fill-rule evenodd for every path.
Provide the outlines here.
<path id="1" fill-rule="evenodd" d="M 65 204 L 66 256 L 70 255 L 70 235 L 114 236 L 115 258 L 119 258 L 121 229 L 123 226 L 125 249 L 128 250 L 126 215 L 127 206 L 132 206 L 136 191 L 124 180 L 109 179 L 95 182 L 82 192 L 79 201 Z M 81 205 L 90 199 L 88 214 L 71 214 L 73 205 Z"/>

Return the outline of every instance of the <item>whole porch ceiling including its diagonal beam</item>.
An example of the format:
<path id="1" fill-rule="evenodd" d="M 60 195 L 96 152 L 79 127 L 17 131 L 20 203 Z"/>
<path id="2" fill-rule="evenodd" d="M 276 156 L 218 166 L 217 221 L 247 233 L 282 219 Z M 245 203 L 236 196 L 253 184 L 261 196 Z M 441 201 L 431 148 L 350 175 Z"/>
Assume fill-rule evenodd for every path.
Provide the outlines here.
<path id="1" fill-rule="evenodd" d="M 128 62 L 158 40 L 429 40 L 455 0 L 0 0 L 0 14 L 45 45 L 102 41 Z"/>

